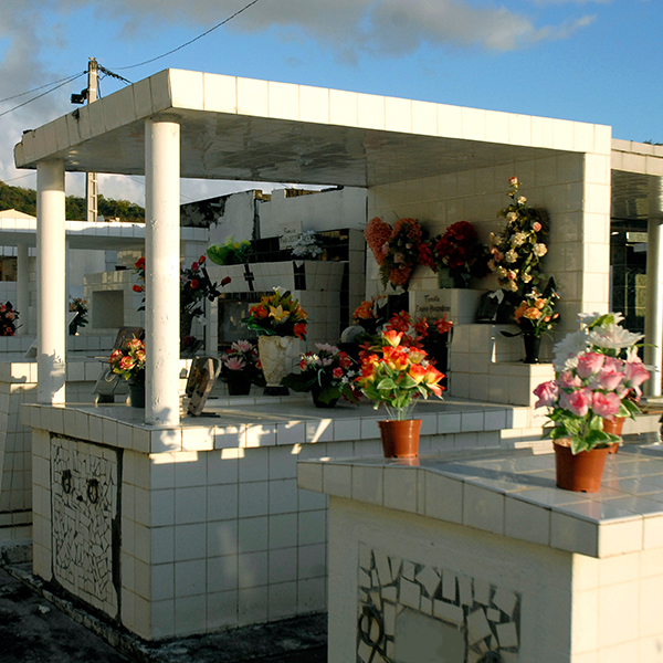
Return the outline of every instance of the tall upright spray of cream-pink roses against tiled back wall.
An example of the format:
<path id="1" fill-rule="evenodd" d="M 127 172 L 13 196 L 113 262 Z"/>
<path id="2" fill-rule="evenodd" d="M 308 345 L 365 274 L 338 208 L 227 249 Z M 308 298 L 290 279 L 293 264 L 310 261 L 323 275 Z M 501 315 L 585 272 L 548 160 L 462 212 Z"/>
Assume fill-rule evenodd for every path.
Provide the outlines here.
<path id="1" fill-rule="evenodd" d="M 548 215 L 540 208 L 532 208 L 524 196 L 518 196 L 518 178 L 509 179 L 508 197 L 512 203 L 498 212 L 506 219 L 504 230 L 491 233 L 488 269 L 508 295 L 526 290 L 540 280 L 540 261 L 548 252 L 543 235 L 548 232 Z"/>

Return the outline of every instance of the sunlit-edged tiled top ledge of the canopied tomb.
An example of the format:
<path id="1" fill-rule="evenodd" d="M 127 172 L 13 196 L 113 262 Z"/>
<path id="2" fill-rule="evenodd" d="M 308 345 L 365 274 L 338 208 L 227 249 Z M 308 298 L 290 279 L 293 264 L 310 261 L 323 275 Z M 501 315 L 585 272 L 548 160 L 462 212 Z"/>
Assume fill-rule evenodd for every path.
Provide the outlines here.
<path id="1" fill-rule="evenodd" d="M 311 398 L 238 397 L 208 401 L 211 415 L 182 418 L 177 427 L 145 424 L 145 410 L 125 404 L 24 404 L 21 422 L 35 429 L 67 434 L 140 453 L 212 451 L 375 440 L 383 411 L 369 403 L 339 404 L 330 410 L 313 407 Z M 421 434 L 481 433 L 519 428 L 526 408 L 428 400 L 417 406 Z"/>

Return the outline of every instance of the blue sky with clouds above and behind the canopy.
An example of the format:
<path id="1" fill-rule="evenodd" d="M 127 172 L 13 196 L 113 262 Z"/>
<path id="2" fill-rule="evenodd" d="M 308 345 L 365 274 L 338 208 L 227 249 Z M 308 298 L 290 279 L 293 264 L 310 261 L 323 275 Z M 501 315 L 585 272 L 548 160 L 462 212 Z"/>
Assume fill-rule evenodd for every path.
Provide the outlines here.
<path id="1" fill-rule="evenodd" d="M 90 57 L 133 83 L 204 71 L 606 124 L 614 138 L 663 143 L 661 34 L 661 0 L 2 0 L 0 179 L 35 188 L 13 146 L 75 108 Z M 102 75 L 101 96 L 124 85 Z M 246 188 L 182 180 L 181 201 Z M 144 202 L 141 178 L 102 175 L 99 190 Z M 67 175 L 67 194 L 83 191 L 83 176 Z"/>

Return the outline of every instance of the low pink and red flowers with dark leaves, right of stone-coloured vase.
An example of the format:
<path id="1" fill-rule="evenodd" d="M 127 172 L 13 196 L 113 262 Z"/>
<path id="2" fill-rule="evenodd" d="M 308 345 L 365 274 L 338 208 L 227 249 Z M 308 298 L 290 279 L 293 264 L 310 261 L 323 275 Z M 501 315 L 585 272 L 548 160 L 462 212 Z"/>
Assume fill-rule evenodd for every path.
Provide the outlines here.
<path id="1" fill-rule="evenodd" d="M 316 408 L 334 408 L 339 398 L 357 402 L 354 361 L 336 346 L 316 343 L 317 351 L 302 355 L 299 373 L 290 373 L 283 383 L 294 391 L 311 391 Z"/>

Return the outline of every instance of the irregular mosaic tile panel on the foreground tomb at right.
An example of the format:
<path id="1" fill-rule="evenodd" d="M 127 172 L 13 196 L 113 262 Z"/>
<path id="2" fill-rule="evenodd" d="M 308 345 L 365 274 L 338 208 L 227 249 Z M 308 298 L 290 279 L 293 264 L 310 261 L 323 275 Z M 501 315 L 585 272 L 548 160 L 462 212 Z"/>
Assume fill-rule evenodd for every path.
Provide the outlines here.
<path id="1" fill-rule="evenodd" d="M 357 663 L 518 663 L 520 594 L 360 546 Z"/>

